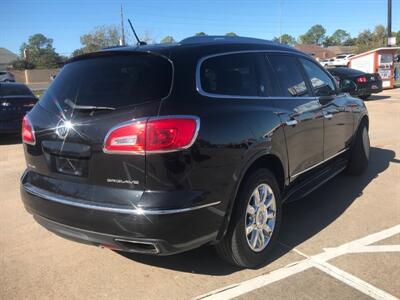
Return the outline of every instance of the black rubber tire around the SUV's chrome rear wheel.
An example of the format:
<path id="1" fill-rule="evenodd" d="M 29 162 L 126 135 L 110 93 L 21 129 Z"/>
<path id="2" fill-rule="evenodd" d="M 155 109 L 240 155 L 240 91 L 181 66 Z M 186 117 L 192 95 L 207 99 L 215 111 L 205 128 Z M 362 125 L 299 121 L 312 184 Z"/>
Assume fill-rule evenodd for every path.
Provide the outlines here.
<path id="1" fill-rule="evenodd" d="M 260 204 L 257 210 L 254 210 L 255 213 L 252 214 L 248 212 L 248 209 L 250 209 L 248 206 L 257 207 L 255 204 L 256 197 L 254 196 L 256 189 L 262 199 L 265 198 L 262 196 L 266 194 L 265 191 L 269 191 L 266 194 L 268 196 L 265 203 L 270 206 L 266 208 L 268 205 L 263 206 L 263 204 Z M 270 196 L 271 192 L 272 197 Z M 274 206 L 272 202 L 274 202 Z M 218 255 L 228 263 L 240 267 L 258 268 L 265 265 L 268 262 L 271 250 L 277 242 L 281 219 L 281 195 L 275 176 L 267 169 L 254 171 L 240 188 L 228 231 L 221 242 L 216 245 Z M 249 226 L 249 224 L 252 225 Z M 268 226 L 263 227 L 265 226 L 264 224 Z M 254 229 L 249 235 L 246 235 L 246 229 L 250 227 Z M 269 231 L 269 229 L 272 229 L 272 231 Z M 269 239 L 267 232 L 270 233 Z M 254 240 L 256 244 L 252 249 L 253 246 L 250 243 Z"/>

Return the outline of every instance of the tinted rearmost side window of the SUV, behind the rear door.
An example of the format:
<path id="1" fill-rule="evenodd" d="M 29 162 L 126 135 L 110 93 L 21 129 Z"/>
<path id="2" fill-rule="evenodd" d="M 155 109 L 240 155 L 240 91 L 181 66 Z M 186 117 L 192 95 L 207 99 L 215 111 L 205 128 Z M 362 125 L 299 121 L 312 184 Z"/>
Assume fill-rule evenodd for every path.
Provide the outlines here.
<path id="1" fill-rule="evenodd" d="M 265 65 L 261 53 L 237 53 L 206 59 L 200 66 L 204 92 L 226 96 L 266 96 L 270 81 L 260 69 Z"/>

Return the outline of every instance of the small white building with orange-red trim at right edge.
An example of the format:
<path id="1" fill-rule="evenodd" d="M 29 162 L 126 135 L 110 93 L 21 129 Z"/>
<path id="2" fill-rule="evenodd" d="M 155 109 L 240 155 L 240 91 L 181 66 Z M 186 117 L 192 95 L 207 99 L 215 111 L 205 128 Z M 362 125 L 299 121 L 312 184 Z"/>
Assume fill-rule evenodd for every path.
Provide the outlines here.
<path id="1" fill-rule="evenodd" d="M 349 67 L 366 73 L 379 73 L 382 77 L 382 87 L 394 87 L 395 57 L 400 47 L 382 47 L 350 58 Z"/>

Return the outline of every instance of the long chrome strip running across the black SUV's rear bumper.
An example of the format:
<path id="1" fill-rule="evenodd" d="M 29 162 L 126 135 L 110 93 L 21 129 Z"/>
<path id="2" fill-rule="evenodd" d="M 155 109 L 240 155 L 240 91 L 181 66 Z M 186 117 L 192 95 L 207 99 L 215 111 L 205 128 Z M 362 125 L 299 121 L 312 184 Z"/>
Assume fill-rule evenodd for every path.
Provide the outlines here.
<path id="1" fill-rule="evenodd" d="M 168 214 L 177 214 L 183 212 L 189 212 L 193 210 L 198 210 L 202 208 L 206 208 L 209 206 L 218 205 L 221 201 L 207 203 L 198 206 L 186 207 L 186 208 L 178 208 L 178 209 L 141 209 L 141 208 L 121 208 L 116 206 L 100 206 L 95 204 L 90 204 L 88 202 L 79 202 L 79 199 L 69 197 L 69 196 L 61 196 L 41 188 L 35 187 L 30 183 L 24 183 L 22 185 L 25 192 L 30 195 L 48 200 L 57 202 L 64 205 L 70 205 L 75 207 L 80 207 L 84 209 L 92 209 L 92 210 L 99 210 L 99 211 L 106 211 L 106 212 L 113 212 L 113 213 L 122 213 L 122 214 L 135 214 L 135 215 L 168 215 Z"/>

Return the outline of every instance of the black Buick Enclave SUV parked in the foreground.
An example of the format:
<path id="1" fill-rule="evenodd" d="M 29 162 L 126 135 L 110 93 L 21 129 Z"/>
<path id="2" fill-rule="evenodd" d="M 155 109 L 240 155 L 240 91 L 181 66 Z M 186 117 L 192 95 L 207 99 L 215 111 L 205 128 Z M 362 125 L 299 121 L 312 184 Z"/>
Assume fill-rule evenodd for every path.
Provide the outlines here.
<path id="1" fill-rule="evenodd" d="M 351 85 L 349 85 L 349 88 Z M 291 47 L 238 37 L 70 60 L 24 118 L 26 209 L 65 238 L 264 264 L 284 202 L 368 164 L 364 103 Z"/>

